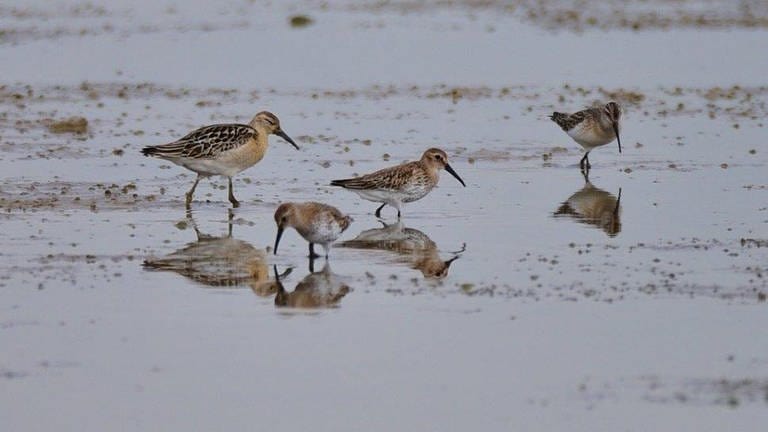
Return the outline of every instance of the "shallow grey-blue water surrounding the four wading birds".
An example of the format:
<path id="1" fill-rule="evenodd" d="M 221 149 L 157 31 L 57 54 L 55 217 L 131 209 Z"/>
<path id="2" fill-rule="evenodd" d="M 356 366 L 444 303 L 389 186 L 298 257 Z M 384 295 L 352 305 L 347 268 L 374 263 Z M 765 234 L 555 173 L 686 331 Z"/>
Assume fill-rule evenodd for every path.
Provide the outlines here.
<path id="1" fill-rule="evenodd" d="M 761 27 L 552 33 L 484 7 L 110 5 L 1 9 L 4 28 L 32 29 L 0 39 L 9 430 L 768 419 Z M 315 22 L 292 29 L 301 11 Z M 609 97 L 624 152 L 594 151 L 586 183 L 546 116 Z M 139 154 L 264 108 L 302 149 L 273 137 L 236 178 L 238 209 L 213 179 L 187 214 L 193 176 Z M 87 135 L 49 132 L 70 116 Z M 443 175 L 400 226 L 327 186 L 431 146 L 467 187 Z M 276 205 L 309 199 L 355 218 L 314 272 L 295 232 L 270 249 Z"/>

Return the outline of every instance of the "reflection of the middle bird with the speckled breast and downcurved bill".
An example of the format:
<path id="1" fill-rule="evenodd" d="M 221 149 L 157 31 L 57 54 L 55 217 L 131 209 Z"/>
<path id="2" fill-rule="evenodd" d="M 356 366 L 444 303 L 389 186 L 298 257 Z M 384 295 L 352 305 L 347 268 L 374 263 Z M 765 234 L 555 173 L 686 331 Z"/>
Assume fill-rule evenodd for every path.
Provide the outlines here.
<path id="1" fill-rule="evenodd" d="M 425 278 L 436 279 L 446 277 L 451 263 L 459 259 L 466 249 L 466 245 L 462 245 L 461 250 L 453 252 L 453 257 L 443 260 L 440 258 L 437 244 L 425 233 L 407 228 L 402 221 L 389 225 L 383 221 L 379 222 L 384 225 L 382 228 L 365 230 L 354 239 L 342 242 L 340 246 L 395 252 L 399 256 L 398 261 L 419 270 Z"/>

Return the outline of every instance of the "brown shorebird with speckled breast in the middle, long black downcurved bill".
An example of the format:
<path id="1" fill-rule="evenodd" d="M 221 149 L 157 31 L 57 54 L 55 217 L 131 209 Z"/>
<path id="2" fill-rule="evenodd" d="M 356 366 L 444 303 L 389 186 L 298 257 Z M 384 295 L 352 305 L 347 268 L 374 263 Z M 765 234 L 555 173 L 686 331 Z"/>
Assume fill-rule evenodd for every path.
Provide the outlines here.
<path id="1" fill-rule="evenodd" d="M 438 148 L 425 151 L 420 160 L 384 168 L 361 177 L 333 180 L 331 186 L 341 186 L 365 200 L 382 203 L 376 209 L 376 217 L 381 217 L 381 209 L 389 204 L 397 209 L 399 218 L 404 203 L 424 198 L 437 185 L 441 169 L 448 171 L 462 186 L 467 186 L 448 164 L 448 155 Z"/>

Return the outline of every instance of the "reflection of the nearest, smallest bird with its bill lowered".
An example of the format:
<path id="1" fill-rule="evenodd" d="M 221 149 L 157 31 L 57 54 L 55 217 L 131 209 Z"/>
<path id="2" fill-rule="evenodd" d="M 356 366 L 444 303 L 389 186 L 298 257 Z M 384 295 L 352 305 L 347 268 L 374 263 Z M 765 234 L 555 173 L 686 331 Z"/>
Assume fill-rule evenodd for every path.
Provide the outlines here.
<path id="1" fill-rule="evenodd" d="M 338 307 L 339 302 L 349 293 L 350 288 L 344 282 L 344 277 L 331 271 L 328 261 L 319 272 L 310 269 L 310 273 L 304 277 L 291 292 L 287 292 L 280 280 L 285 273 L 280 275 L 277 266 L 273 266 L 275 272 L 275 306 L 298 309 L 320 309 Z"/>

